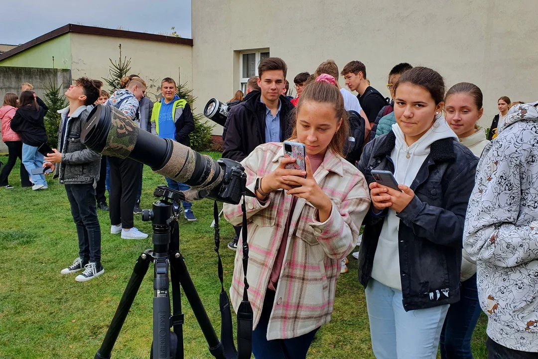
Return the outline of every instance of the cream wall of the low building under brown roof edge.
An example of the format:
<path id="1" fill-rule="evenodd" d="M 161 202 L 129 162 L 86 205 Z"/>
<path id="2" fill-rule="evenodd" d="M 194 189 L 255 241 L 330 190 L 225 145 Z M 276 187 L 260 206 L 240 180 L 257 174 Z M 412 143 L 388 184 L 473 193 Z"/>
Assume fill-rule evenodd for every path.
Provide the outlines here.
<path id="1" fill-rule="evenodd" d="M 119 44 L 122 58 L 131 59 L 129 73 L 139 74 L 146 81 L 146 94 L 152 101 L 160 94 L 161 80 L 165 77 L 192 86 L 192 46 L 80 33 L 71 33 L 72 78 L 107 78 L 109 59 L 119 58 Z M 104 88 L 108 90 L 106 85 Z"/>

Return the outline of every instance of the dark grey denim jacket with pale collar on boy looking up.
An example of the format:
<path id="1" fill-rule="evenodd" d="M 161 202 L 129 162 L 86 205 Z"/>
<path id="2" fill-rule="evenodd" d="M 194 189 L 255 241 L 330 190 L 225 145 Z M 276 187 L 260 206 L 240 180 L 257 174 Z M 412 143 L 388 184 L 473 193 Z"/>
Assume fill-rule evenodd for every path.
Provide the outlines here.
<path id="1" fill-rule="evenodd" d="M 58 129 L 58 151 L 62 154 L 62 161 L 56 164 L 54 178 L 59 178 L 62 185 L 93 184 L 95 187 L 99 180 L 101 154 L 88 149 L 80 142 L 82 121 L 88 117 L 89 109 L 87 106 L 77 108 L 67 121 L 64 121 L 64 118 L 69 113 L 69 106 L 58 111 L 62 118 Z M 67 127 L 62 146 L 64 125 Z"/>

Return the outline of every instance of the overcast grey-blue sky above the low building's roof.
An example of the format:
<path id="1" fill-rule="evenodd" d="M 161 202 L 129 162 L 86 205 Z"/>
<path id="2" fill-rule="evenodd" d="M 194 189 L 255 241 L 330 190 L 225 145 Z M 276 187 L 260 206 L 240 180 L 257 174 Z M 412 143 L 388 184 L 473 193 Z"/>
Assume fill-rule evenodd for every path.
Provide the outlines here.
<path id="1" fill-rule="evenodd" d="M 150 33 L 175 31 L 190 38 L 190 0 L 39 0 L 24 4 L 0 0 L 0 8 L 0 44 L 24 44 L 66 24 L 122 26 L 123 30 Z"/>

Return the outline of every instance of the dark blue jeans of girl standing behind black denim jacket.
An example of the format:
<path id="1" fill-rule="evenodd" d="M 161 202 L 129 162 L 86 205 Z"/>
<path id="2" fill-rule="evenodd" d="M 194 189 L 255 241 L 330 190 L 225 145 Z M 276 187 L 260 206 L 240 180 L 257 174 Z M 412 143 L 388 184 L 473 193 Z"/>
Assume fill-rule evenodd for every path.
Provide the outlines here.
<path id="1" fill-rule="evenodd" d="M 462 282 L 461 299 L 448 309 L 441 332 L 442 359 L 473 359 L 471 337 L 481 312 L 475 274 Z"/>

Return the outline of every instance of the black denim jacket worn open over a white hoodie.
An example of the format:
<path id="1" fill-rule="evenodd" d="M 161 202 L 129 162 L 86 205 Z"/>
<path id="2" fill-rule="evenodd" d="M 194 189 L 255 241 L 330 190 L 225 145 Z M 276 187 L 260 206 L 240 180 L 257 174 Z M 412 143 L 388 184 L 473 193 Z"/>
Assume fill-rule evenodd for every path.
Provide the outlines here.
<path id="1" fill-rule="evenodd" d="M 391 152 L 394 132 L 368 143 L 358 169 L 368 184 L 372 170 L 394 173 Z M 431 144 L 430 154 L 413 184 L 409 205 L 398 213 L 400 279 L 405 311 L 452 304 L 459 300 L 463 226 L 478 159 L 453 138 Z M 359 281 L 364 287 L 372 273 L 373 258 L 387 210 L 369 212 L 359 250 Z"/>

